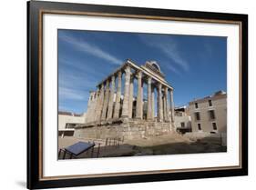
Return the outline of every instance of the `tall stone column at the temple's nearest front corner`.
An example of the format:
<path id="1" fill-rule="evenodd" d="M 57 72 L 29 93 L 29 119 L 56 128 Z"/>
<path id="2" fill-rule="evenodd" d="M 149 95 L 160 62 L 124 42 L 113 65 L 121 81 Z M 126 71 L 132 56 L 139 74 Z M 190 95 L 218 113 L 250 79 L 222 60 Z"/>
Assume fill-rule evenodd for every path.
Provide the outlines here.
<path id="1" fill-rule="evenodd" d="M 128 96 L 129 96 L 129 83 L 130 83 L 130 67 L 126 66 L 125 68 L 125 92 L 124 92 L 124 101 L 122 106 L 122 117 L 128 117 Z"/>

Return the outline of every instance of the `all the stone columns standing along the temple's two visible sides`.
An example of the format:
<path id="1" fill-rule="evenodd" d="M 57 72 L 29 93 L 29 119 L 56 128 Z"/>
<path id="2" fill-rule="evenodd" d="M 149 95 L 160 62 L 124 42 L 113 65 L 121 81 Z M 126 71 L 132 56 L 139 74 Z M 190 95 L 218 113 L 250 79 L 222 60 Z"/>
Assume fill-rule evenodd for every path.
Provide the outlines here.
<path id="1" fill-rule="evenodd" d="M 130 66 L 125 67 L 125 85 L 124 85 L 124 96 L 122 104 L 121 117 L 132 118 L 133 113 L 133 92 L 134 92 L 134 75 L 131 73 Z M 142 81 L 142 71 L 138 71 L 136 74 L 138 79 L 138 90 L 137 90 L 137 104 L 135 117 L 138 119 L 143 119 L 143 81 Z M 152 78 L 148 76 L 148 106 L 147 106 L 147 120 L 154 120 L 155 117 L 155 86 L 152 85 Z M 121 88 L 122 88 L 122 71 L 118 71 L 118 86 L 117 92 L 116 88 L 116 76 L 111 76 L 111 81 L 106 81 L 105 84 L 99 85 L 97 93 L 94 95 L 92 101 L 90 101 L 90 109 L 93 109 L 94 116 L 90 114 L 91 111 L 88 110 L 87 121 L 102 121 L 111 118 L 118 118 L 120 115 L 121 108 Z M 109 87 L 111 85 L 111 87 Z M 173 104 L 173 92 L 172 89 L 167 86 L 163 86 L 158 83 L 158 121 L 159 122 L 170 122 L 174 121 L 174 104 Z M 116 95 L 115 95 L 116 93 Z M 168 100 L 169 94 L 169 100 Z M 115 100 L 114 100 L 115 99 Z M 115 104 L 114 104 L 115 103 Z M 93 107 L 91 107 L 93 106 Z M 171 109 L 170 109 L 171 108 Z M 89 109 L 89 107 L 88 107 Z M 169 110 L 170 114 L 169 114 Z"/>

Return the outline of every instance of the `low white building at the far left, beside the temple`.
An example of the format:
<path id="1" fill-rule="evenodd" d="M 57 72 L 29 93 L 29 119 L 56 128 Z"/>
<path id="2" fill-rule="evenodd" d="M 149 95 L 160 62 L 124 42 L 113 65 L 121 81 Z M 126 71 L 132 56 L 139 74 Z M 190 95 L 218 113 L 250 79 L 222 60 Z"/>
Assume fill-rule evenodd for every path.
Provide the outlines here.
<path id="1" fill-rule="evenodd" d="M 71 112 L 58 112 L 58 135 L 74 135 L 75 126 L 86 122 L 86 114 L 77 115 Z"/>

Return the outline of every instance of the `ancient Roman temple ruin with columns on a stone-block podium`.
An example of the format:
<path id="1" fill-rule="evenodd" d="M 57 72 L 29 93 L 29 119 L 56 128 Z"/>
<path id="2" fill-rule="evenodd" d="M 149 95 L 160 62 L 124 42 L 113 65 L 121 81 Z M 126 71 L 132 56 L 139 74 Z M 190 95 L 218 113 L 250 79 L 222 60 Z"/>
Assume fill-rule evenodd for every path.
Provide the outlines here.
<path id="1" fill-rule="evenodd" d="M 128 59 L 90 92 L 86 123 L 76 126 L 75 136 L 147 138 L 172 133 L 173 128 L 173 87 L 158 63 L 139 66 Z"/>

